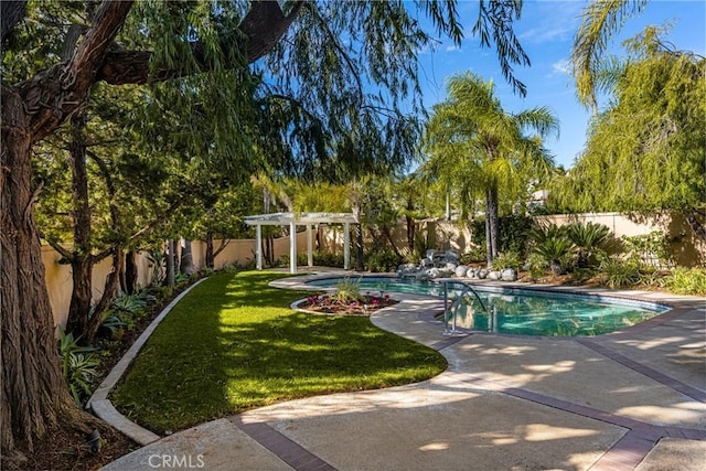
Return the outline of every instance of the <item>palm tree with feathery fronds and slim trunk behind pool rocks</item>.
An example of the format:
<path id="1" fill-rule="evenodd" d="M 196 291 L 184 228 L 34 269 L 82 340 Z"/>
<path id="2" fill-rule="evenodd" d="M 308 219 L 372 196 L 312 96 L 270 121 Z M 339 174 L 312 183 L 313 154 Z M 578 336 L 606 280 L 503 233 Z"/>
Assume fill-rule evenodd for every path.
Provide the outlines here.
<path id="1" fill-rule="evenodd" d="M 431 159 L 426 169 L 456 188 L 464 207 L 484 197 L 491 264 L 498 255 L 499 194 L 517 196 L 530 178 L 550 172 L 553 161 L 542 138 L 558 135 L 558 120 L 546 107 L 505 111 L 492 81 L 468 72 L 451 76 L 448 94 L 427 125 L 425 143 Z M 526 136 L 527 130 L 536 133 Z"/>

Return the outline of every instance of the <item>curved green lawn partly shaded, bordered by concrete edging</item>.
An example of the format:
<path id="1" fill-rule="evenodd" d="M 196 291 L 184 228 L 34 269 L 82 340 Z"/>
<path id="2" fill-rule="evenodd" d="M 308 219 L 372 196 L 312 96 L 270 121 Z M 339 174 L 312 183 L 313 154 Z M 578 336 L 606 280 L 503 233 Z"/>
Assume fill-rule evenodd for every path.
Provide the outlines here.
<path id="1" fill-rule="evenodd" d="M 281 274 L 216 275 L 162 321 L 111 400 L 158 433 L 287 399 L 439 374 L 441 354 L 367 318 L 296 312 Z"/>

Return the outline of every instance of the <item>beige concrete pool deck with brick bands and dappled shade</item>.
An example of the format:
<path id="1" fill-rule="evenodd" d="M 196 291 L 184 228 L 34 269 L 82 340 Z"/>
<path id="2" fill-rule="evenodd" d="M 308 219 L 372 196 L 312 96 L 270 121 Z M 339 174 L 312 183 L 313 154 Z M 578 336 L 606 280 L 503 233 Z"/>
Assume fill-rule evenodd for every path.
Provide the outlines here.
<path id="1" fill-rule="evenodd" d="M 704 469 L 706 300 L 611 293 L 674 309 L 596 338 L 445 336 L 442 301 L 396 296 L 371 321 L 441 352 L 439 376 L 217 419 L 104 469 Z"/>

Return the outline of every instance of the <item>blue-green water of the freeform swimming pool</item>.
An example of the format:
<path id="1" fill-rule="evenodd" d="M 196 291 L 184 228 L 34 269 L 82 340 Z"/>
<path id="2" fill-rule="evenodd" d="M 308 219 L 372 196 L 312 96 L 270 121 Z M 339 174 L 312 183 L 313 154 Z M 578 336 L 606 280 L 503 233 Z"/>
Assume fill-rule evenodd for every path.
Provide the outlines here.
<path id="1" fill-rule="evenodd" d="M 343 278 L 309 282 L 314 287 L 335 287 Z M 398 278 L 361 277 L 361 292 L 396 291 L 443 297 L 443 285 Z M 450 282 L 450 300 L 461 295 L 463 285 Z M 459 303 L 457 328 L 515 335 L 577 336 L 614 332 L 670 310 L 668 307 L 595 295 L 569 295 L 516 288 L 474 285 L 478 297 L 469 293 Z"/>

